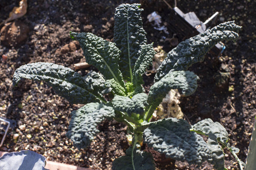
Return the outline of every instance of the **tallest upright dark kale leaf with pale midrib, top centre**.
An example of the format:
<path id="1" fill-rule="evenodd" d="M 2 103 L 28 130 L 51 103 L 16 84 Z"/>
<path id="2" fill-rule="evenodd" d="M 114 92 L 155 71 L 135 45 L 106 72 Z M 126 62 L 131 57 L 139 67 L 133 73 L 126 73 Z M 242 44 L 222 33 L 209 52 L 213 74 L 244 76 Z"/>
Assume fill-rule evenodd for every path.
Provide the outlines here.
<path id="1" fill-rule="evenodd" d="M 122 4 L 115 8 L 114 42 L 121 50 L 119 62 L 124 79 L 132 82 L 135 62 L 141 45 L 147 43 L 139 4 Z"/>

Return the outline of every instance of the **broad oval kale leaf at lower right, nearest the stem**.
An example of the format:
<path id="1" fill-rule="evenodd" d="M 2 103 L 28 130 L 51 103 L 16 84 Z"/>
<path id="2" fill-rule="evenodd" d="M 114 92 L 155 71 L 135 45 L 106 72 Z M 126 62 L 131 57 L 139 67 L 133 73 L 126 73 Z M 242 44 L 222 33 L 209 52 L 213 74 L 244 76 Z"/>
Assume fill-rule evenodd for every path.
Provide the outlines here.
<path id="1" fill-rule="evenodd" d="M 144 130 L 144 142 L 168 158 L 187 160 L 189 164 L 200 165 L 212 158 L 204 139 L 193 131 L 187 121 L 164 118 Z"/>

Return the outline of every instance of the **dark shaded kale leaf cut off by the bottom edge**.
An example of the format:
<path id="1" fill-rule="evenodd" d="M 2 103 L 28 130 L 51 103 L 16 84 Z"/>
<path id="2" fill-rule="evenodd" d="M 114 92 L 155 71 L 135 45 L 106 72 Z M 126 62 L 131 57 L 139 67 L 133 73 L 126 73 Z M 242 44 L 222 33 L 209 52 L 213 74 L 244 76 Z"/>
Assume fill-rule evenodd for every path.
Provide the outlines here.
<path id="1" fill-rule="evenodd" d="M 133 155 L 132 155 L 133 152 Z M 155 170 L 155 163 L 152 155 L 148 152 L 129 147 L 126 155 L 114 160 L 113 170 Z"/>

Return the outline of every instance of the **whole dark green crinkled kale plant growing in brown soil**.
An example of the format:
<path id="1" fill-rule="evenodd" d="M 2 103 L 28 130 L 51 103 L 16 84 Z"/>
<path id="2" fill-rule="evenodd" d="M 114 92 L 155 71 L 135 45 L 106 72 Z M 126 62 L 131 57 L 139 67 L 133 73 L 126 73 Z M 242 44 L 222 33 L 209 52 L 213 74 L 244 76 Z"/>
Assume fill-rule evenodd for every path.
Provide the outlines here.
<path id="1" fill-rule="evenodd" d="M 123 4 L 115 10 L 114 42 L 92 33 L 70 32 L 72 40 L 79 41 L 86 62 L 100 73 L 85 77 L 54 63 L 29 63 L 14 73 L 13 84 L 21 78 L 44 80 L 72 104 L 85 104 L 71 113 L 67 137 L 78 148 L 85 148 L 94 139 L 101 121 L 114 119 L 128 127 L 133 136 L 132 145 L 113 162 L 113 169 L 155 169 L 151 154 L 141 151 L 141 144 L 163 153 L 168 158 L 202 164 L 205 160 L 216 169 L 225 169 L 224 148 L 237 157 L 238 149 L 228 143 L 228 133 L 218 122 L 202 120 L 195 125 L 177 118 L 150 122 L 155 109 L 171 89 L 183 96 L 196 91 L 197 75 L 187 71 L 193 63 L 201 62 L 209 50 L 223 40 L 237 40 L 240 26 L 226 22 L 195 37 L 180 42 L 168 53 L 155 75 L 155 83 L 148 95 L 142 75 L 151 65 L 155 51 L 147 44 L 142 27 L 139 4 Z M 113 94 L 106 100 L 105 94 Z M 201 135 L 208 137 L 205 142 Z"/>

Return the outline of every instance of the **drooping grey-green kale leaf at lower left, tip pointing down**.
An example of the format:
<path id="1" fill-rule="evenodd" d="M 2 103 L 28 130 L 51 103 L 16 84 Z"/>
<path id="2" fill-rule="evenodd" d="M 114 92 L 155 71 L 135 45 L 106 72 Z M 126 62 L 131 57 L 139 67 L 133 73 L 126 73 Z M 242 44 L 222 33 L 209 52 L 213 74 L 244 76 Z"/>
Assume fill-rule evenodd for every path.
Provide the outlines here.
<path id="1" fill-rule="evenodd" d="M 112 107 L 100 103 L 88 103 L 71 113 L 71 121 L 66 135 L 73 141 L 74 146 L 85 148 L 94 136 L 100 132 L 97 125 L 105 118 L 114 116 L 115 113 Z"/>

